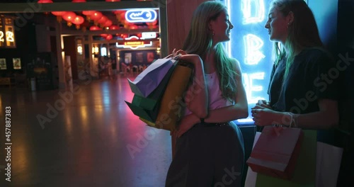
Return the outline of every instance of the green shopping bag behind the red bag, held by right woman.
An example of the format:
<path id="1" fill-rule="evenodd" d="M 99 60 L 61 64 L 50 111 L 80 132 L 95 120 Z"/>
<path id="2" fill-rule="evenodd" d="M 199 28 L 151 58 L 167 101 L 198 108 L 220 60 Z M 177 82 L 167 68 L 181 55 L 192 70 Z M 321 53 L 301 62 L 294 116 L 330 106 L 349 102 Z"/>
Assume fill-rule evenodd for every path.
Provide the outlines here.
<path id="1" fill-rule="evenodd" d="M 316 186 L 316 130 L 302 130 L 304 137 L 299 150 L 299 157 L 295 166 L 292 179 L 285 180 L 278 177 L 268 176 L 265 174 L 257 174 L 256 187 L 299 187 L 299 186 Z M 263 134 L 263 132 L 262 132 Z M 261 141 L 258 139 L 258 142 Z M 258 143 L 257 142 L 257 143 Z"/>

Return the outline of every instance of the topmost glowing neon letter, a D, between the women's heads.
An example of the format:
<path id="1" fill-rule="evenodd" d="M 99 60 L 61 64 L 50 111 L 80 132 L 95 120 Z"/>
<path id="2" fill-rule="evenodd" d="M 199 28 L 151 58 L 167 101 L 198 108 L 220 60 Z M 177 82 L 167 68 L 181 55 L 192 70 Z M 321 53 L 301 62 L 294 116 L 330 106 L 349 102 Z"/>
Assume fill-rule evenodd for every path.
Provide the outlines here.
<path id="1" fill-rule="evenodd" d="M 245 25 L 249 23 L 259 23 L 264 20 L 265 8 L 263 0 L 243 0 L 241 4 Z"/>

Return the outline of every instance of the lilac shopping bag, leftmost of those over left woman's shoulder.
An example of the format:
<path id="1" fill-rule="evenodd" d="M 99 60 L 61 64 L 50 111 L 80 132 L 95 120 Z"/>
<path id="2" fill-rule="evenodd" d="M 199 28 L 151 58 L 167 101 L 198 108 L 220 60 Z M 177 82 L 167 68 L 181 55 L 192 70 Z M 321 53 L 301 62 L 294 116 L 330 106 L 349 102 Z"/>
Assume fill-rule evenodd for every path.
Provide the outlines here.
<path id="1" fill-rule="evenodd" d="M 156 89 L 164 79 L 169 69 L 173 67 L 175 60 L 159 59 L 153 62 L 134 81 L 129 81 L 130 89 L 134 94 L 147 97 Z"/>

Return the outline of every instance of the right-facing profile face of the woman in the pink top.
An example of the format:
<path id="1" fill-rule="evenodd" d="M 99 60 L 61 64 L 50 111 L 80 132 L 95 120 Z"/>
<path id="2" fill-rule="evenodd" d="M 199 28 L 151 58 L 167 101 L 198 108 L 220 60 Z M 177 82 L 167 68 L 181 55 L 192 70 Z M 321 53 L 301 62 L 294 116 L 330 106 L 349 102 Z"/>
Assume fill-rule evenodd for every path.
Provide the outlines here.
<path id="1" fill-rule="evenodd" d="M 214 21 L 210 21 L 211 29 L 215 31 L 213 36 L 213 42 L 225 42 L 230 40 L 230 30 L 234 28 L 229 21 L 229 14 L 227 11 L 222 11 L 220 15 Z"/>

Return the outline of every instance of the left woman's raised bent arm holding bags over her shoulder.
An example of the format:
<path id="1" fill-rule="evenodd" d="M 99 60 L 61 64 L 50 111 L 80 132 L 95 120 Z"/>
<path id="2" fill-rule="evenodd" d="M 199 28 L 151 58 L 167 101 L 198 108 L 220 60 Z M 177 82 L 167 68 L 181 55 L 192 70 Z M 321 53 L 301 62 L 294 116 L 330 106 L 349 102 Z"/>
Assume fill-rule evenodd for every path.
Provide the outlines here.
<path id="1" fill-rule="evenodd" d="M 184 60 L 194 65 L 193 83 L 190 84 L 185 92 L 184 101 L 187 108 L 198 116 L 205 118 L 207 116 L 207 84 L 205 82 L 205 73 L 202 60 L 199 55 L 182 55 L 180 60 Z"/>

